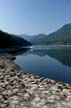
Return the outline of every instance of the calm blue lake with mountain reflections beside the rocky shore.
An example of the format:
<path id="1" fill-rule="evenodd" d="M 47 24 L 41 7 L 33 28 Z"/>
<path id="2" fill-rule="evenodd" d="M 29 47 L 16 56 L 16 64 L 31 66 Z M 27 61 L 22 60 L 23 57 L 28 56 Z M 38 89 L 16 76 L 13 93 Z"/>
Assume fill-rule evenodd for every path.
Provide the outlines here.
<path id="1" fill-rule="evenodd" d="M 15 62 L 25 72 L 71 83 L 70 46 L 32 46 L 18 52 Z"/>

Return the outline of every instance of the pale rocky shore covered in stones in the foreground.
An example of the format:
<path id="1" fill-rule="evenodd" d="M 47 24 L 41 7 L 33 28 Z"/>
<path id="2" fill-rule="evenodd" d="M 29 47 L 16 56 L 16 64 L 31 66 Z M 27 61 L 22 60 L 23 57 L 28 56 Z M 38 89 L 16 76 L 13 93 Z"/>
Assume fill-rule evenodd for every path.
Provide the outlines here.
<path id="1" fill-rule="evenodd" d="M 0 58 L 0 108 L 71 108 L 71 85 L 18 69 Z"/>

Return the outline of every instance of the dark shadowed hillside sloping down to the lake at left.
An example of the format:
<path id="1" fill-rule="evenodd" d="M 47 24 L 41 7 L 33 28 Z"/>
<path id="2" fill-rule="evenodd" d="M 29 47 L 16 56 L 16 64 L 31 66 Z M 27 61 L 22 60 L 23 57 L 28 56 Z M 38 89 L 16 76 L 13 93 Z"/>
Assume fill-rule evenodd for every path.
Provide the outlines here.
<path id="1" fill-rule="evenodd" d="M 0 30 L 0 49 L 31 45 L 30 42 L 16 35 L 8 34 Z"/>

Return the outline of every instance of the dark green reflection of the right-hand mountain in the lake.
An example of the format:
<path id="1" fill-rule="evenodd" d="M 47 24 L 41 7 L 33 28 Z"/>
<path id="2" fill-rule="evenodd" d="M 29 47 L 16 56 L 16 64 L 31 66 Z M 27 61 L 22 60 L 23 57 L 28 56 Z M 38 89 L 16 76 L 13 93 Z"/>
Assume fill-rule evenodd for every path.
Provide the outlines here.
<path id="1" fill-rule="evenodd" d="M 57 59 L 64 65 L 71 67 L 71 50 L 62 50 L 62 49 L 49 49 L 49 50 L 32 50 L 28 53 L 35 54 L 38 56 L 50 56 L 54 59 Z"/>

